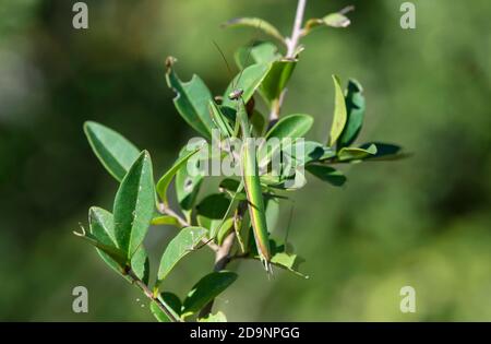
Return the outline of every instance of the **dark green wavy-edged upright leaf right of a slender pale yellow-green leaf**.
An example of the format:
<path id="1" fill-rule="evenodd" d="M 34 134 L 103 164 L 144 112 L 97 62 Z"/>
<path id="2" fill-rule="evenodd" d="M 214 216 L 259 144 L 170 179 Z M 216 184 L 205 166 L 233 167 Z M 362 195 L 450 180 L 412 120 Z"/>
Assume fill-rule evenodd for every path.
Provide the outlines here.
<path id="1" fill-rule="evenodd" d="M 366 102 L 363 88 L 356 80 L 349 80 L 346 93 L 347 122 L 339 137 L 338 149 L 349 146 L 357 139 L 363 124 Z"/>

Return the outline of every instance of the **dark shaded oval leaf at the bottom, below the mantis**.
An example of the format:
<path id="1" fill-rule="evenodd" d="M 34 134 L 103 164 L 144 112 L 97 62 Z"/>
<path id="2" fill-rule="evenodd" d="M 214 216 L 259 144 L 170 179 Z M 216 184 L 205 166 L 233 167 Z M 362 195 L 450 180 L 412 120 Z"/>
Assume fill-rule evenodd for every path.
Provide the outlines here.
<path id="1" fill-rule="evenodd" d="M 182 317 L 197 312 L 237 280 L 229 271 L 212 272 L 201 278 L 189 292 L 182 307 Z"/>

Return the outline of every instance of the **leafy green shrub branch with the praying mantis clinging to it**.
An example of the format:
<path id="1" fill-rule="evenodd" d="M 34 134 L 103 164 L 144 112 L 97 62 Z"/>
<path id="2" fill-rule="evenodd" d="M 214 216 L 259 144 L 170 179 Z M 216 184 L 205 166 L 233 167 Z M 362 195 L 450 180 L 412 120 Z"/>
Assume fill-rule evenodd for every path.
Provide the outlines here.
<path id="1" fill-rule="evenodd" d="M 316 27 L 348 26 L 350 22 L 345 14 L 343 11 L 307 21 L 300 37 Z M 237 19 L 225 26 L 259 27 L 279 40 L 282 48 L 291 50 L 291 38 L 285 38 L 272 24 L 260 19 Z M 166 80 L 176 93 L 176 110 L 203 138 L 192 149 L 182 147 L 175 164 L 156 185 L 146 151 L 140 152 L 122 135 L 99 123 L 84 124 L 94 153 L 120 185 L 112 214 L 91 207 L 91 230 L 77 235 L 93 245 L 113 271 L 143 289 L 151 298 L 149 308 L 158 321 L 188 320 L 190 316 L 196 316 L 199 321 L 226 321 L 223 312 L 213 313 L 207 305 L 237 280 L 236 273 L 225 271 L 232 259 L 260 260 L 268 272 L 275 266 L 304 276 L 298 269 L 303 260 L 287 249 L 286 244 L 277 245 L 272 239 L 283 201 L 289 199 L 286 192 L 296 191 L 308 182 L 304 170 L 340 187 L 347 179 L 333 164 L 405 156 L 393 144 L 352 145 L 366 116 L 362 86 L 355 80 L 349 80 L 344 91 L 339 79 L 333 75 L 335 107 L 327 144 L 303 140 L 314 123 L 312 116 L 300 112 L 276 120 L 286 86 L 299 63 L 302 47 L 297 43 L 294 48 L 292 55 L 291 51 L 282 52 L 270 41 L 255 41 L 239 48 L 235 57 L 240 71 L 221 97 L 214 97 L 196 75 L 182 82 L 173 69 L 176 59 L 169 57 Z M 325 85 L 325 90 L 312 92 L 328 93 L 330 87 Z M 255 107 L 256 95 L 275 115 L 271 120 L 265 120 Z M 230 144 L 214 152 L 213 146 L 205 146 L 206 142 L 214 141 L 215 130 L 226 139 L 240 140 L 240 149 Z M 253 141 L 255 139 L 261 139 L 259 145 Z M 203 157 L 201 153 L 212 154 Z M 282 163 L 279 170 L 274 170 L 272 166 L 277 157 Z M 235 162 L 241 174 L 226 175 L 218 182 L 218 190 L 212 190 L 208 185 L 202 188 L 208 178 L 196 170 L 216 159 Z M 199 199 L 202 189 L 205 194 Z M 177 204 L 172 204 L 172 190 Z M 177 228 L 176 234 L 169 232 L 172 237 L 165 247 L 153 285 L 148 280 L 149 262 L 143 246 L 151 225 Z M 215 252 L 217 271 L 200 278 L 183 301 L 170 292 L 160 293 L 160 286 L 169 273 L 183 263 L 182 259 L 204 247 Z M 206 313 L 201 313 L 204 310 Z"/>

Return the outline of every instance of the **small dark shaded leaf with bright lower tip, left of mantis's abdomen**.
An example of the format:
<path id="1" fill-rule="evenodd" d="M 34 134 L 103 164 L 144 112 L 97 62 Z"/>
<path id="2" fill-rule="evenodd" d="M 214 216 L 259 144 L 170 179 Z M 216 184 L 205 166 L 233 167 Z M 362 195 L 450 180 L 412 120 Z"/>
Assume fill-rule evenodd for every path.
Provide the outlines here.
<path id="1" fill-rule="evenodd" d="M 230 200 L 224 193 L 213 193 L 204 198 L 196 205 L 196 220 L 200 226 L 209 229 L 209 237 L 214 238 L 216 230 L 227 213 Z"/>

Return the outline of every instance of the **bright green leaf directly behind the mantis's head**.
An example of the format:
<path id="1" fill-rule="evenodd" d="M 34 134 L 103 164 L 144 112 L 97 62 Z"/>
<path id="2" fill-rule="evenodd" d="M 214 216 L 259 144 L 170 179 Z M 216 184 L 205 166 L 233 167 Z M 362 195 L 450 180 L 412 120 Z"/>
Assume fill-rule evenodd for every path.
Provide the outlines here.
<path id="1" fill-rule="evenodd" d="M 242 98 L 244 103 L 253 96 L 254 92 L 260 87 L 264 78 L 268 73 L 271 64 L 252 64 L 240 72 L 228 85 L 224 95 L 223 106 L 236 108 L 236 102 L 229 99 L 228 95 L 237 88 L 243 91 Z M 239 79 L 240 78 L 240 79 Z"/>

